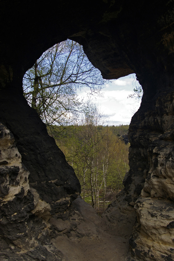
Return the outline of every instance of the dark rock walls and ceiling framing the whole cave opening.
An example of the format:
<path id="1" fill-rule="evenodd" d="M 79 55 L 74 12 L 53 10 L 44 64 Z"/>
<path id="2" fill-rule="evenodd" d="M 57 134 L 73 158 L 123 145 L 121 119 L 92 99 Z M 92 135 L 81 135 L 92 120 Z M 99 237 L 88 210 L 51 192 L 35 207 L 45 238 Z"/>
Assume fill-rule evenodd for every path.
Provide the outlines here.
<path id="1" fill-rule="evenodd" d="M 70 38 L 83 45 L 105 79 L 134 72 L 143 87 L 140 109 L 130 124 L 125 189 L 106 218 L 119 223 L 131 213 L 131 227 L 137 217 L 127 260 L 172 261 L 173 1 L 88 1 L 84 8 L 77 0 L 52 0 L 49 7 L 32 0 L 1 3 L 1 229 L 4 249 L 11 251 L 8 260 L 19 250 L 21 260 L 44 260 L 44 251 L 50 252 L 47 260 L 59 260 L 58 252 L 43 248 L 49 244 L 42 235 L 50 237 L 50 216 L 64 218 L 80 193 L 74 170 L 22 92 L 26 70 L 43 51 Z"/>

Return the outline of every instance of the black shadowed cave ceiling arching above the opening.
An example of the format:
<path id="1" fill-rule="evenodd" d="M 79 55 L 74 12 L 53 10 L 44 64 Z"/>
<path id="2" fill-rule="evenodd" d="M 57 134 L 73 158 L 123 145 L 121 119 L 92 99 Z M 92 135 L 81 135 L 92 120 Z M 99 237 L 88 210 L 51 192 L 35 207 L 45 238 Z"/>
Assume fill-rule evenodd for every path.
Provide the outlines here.
<path id="1" fill-rule="evenodd" d="M 83 7 L 79 1 L 3 1 L 2 64 L 24 74 L 43 51 L 70 38 L 83 44 L 103 78 L 156 72 L 157 64 L 170 63 L 163 56 L 173 56 L 170 5 L 172 1 L 88 1 Z"/>

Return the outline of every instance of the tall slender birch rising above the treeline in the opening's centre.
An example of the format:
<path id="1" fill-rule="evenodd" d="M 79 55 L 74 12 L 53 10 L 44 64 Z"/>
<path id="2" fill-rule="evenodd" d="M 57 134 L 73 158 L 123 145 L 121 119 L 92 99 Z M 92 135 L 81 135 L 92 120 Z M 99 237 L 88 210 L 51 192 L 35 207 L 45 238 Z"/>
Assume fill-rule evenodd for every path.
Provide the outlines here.
<path id="1" fill-rule="evenodd" d="M 105 135 L 105 133 L 98 131 L 98 126 L 103 125 L 105 121 L 106 117 L 101 113 L 99 107 L 88 102 L 84 111 L 84 117 L 81 119 L 80 146 L 76 150 L 78 162 L 80 161 L 80 164 L 83 166 L 83 195 L 85 192 L 86 173 L 89 173 L 92 206 L 95 209 L 97 190 L 98 186 L 100 186 L 98 184 L 99 144 Z"/>

